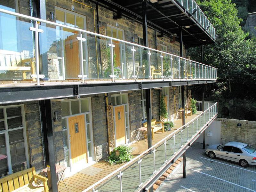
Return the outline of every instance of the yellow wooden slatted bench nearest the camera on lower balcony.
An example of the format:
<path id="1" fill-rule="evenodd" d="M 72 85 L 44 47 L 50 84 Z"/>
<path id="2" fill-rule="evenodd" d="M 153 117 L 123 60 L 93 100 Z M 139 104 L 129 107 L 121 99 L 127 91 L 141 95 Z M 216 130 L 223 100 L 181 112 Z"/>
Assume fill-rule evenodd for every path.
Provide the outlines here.
<path id="1" fill-rule="evenodd" d="M 0 192 L 48 192 L 47 178 L 31 167 L 0 179 Z"/>

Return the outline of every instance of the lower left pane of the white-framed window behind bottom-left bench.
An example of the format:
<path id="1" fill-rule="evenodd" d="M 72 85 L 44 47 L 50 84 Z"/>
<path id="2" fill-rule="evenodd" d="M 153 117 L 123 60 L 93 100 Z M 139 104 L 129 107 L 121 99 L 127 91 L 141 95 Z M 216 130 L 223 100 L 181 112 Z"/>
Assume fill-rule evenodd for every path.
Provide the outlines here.
<path id="1" fill-rule="evenodd" d="M 0 135 L 0 178 L 8 174 L 4 134 Z"/>

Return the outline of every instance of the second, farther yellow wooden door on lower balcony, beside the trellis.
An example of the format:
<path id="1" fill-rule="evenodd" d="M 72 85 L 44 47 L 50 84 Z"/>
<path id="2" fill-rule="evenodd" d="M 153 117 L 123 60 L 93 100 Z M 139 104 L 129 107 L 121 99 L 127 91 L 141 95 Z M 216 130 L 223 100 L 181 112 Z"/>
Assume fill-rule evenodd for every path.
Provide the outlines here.
<path id="1" fill-rule="evenodd" d="M 125 144 L 124 106 L 115 107 L 116 146 Z"/>

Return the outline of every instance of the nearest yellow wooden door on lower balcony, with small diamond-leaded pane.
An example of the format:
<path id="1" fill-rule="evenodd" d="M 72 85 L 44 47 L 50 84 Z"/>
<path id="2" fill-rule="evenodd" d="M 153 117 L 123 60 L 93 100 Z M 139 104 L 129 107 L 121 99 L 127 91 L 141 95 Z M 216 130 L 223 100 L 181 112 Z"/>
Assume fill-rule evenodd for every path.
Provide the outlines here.
<path id="1" fill-rule="evenodd" d="M 84 115 L 68 118 L 72 165 L 83 166 L 87 163 Z"/>

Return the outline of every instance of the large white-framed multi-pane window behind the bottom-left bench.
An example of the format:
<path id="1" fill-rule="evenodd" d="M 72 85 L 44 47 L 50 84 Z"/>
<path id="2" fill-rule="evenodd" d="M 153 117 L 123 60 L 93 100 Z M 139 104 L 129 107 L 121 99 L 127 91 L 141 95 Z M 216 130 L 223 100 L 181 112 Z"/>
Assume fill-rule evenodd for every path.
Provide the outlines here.
<path id="1" fill-rule="evenodd" d="M 29 167 L 24 108 L 0 108 L 0 177 Z"/>

